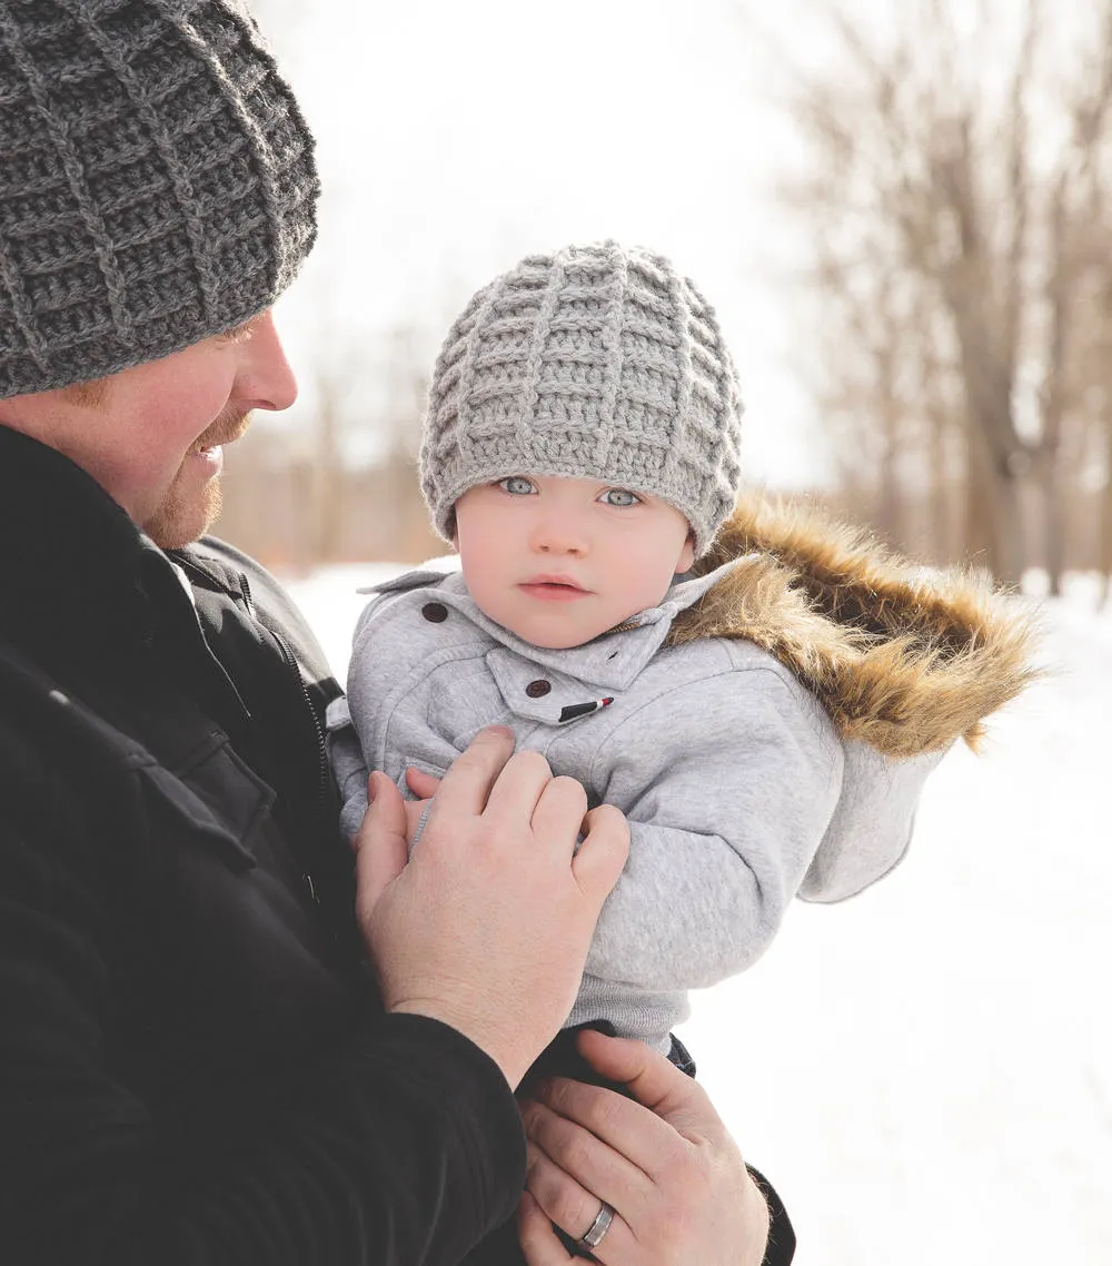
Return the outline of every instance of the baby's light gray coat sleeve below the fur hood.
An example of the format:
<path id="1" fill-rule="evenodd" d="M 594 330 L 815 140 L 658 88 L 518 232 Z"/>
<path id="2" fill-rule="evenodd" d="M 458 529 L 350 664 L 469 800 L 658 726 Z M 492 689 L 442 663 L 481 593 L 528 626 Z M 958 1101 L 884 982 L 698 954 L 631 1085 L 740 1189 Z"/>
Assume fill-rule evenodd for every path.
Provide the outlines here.
<path id="1" fill-rule="evenodd" d="M 630 856 L 587 971 L 686 990 L 753 963 L 822 841 L 841 761 L 817 703 L 764 667 L 678 686 L 625 719 L 592 785 L 624 809 Z"/>

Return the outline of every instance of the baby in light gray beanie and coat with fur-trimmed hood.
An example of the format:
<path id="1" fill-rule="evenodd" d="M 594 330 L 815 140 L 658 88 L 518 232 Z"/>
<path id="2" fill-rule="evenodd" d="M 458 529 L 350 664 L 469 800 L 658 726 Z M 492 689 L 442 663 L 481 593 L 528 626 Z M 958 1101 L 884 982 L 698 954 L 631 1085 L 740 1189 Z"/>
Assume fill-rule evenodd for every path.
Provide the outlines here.
<path id="1" fill-rule="evenodd" d="M 983 585 L 735 506 L 740 417 L 715 314 L 667 260 L 568 247 L 486 286 L 420 454 L 462 570 L 376 587 L 329 713 L 349 833 L 368 768 L 405 790 L 490 724 L 621 809 L 629 862 L 567 1024 L 681 1063 L 687 991 L 753 963 L 792 898 L 887 874 L 927 774 L 1027 675 Z"/>

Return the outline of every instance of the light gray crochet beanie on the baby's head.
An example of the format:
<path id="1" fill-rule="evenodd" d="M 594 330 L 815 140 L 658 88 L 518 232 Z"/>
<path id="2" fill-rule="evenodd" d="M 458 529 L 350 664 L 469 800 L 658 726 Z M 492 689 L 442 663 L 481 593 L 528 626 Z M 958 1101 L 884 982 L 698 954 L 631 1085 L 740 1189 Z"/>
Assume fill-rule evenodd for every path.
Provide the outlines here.
<path id="1" fill-rule="evenodd" d="M 714 310 L 658 254 L 614 242 L 536 254 L 481 290 L 429 391 L 421 491 L 515 473 L 602 479 L 679 509 L 703 553 L 734 506 L 738 377 Z"/>

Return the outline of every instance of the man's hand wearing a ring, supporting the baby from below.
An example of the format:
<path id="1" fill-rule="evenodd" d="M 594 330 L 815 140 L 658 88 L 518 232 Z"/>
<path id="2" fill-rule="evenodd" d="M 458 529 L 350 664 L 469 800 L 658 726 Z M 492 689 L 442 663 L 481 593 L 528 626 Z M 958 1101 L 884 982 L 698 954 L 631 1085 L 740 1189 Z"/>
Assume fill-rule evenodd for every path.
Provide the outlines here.
<path id="1" fill-rule="evenodd" d="M 607 1266 L 759 1266 L 768 1206 L 702 1086 L 641 1042 L 591 1031 L 578 1042 L 639 1103 L 557 1077 L 522 1105 L 529 1266 L 572 1261 L 550 1223 L 582 1236 L 603 1200 L 614 1220 L 593 1256 Z"/>

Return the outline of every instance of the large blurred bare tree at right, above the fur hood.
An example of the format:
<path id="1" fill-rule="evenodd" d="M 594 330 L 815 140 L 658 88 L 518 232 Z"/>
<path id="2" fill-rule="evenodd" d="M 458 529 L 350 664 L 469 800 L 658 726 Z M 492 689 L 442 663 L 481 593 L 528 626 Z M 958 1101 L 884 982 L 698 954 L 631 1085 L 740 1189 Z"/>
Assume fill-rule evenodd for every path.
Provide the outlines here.
<path id="1" fill-rule="evenodd" d="M 793 89 L 787 196 L 843 467 L 897 537 L 912 486 L 941 523 L 959 480 L 961 552 L 1010 582 L 1037 556 L 1056 587 L 1083 437 L 1108 425 L 1112 0 L 1079 0 L 1072 49 L 1045 0 L 907 0 L 887 34 L 822 8 L 839 56 Z"/>

